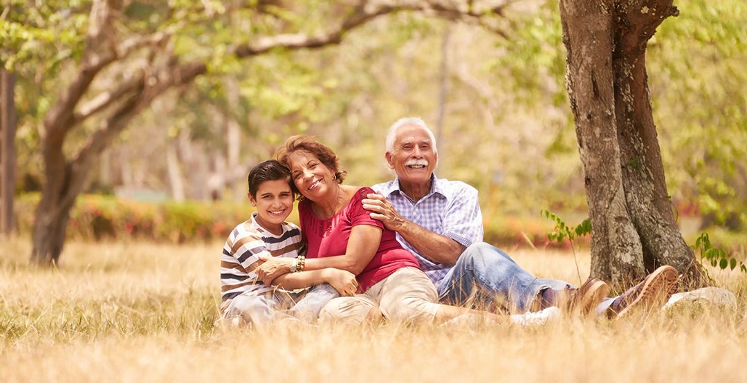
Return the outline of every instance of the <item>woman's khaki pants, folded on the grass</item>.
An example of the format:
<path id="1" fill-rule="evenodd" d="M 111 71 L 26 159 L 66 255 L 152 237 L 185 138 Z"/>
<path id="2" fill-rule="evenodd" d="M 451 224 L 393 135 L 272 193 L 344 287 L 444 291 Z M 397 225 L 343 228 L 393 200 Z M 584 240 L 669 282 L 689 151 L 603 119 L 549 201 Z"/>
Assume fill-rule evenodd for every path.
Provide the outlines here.
<path id="1" fill-rule="evenodd" d="M 365 293 L 332 299 L 322 308 L 319 320 L 360 324 L 378 307 L 392 322 L 431 321 L 440 307 L 437 302 L 430 278 L 415 267 L 403 267 Z"/>

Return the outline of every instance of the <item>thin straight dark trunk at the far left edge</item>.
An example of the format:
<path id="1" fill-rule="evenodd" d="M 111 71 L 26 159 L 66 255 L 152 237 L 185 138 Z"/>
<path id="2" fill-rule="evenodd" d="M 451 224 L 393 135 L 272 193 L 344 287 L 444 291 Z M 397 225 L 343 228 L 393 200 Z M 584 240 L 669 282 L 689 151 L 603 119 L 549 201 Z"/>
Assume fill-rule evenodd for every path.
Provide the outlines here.
<path id="1" fill-rule="evenodd" d="M 13 231 L 13 197 L 16 193 L 15 78 L 0 69 L 0 232 Z"/>

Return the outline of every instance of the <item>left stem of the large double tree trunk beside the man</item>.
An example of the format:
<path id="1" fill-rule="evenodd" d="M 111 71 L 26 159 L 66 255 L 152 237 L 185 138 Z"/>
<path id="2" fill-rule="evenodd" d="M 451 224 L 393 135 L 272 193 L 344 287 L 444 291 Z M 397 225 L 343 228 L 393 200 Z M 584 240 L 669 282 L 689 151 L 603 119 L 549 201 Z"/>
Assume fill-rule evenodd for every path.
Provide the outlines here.
<path id="1" fill-rule="evenodd" d="M 612 19 L 603 7 L 561 1 L 566 86 L 576 122 L 592 221 L 591 274 L 628 284 L 642 274 L 641 243 L 627 212 L 613 90 Z"/>

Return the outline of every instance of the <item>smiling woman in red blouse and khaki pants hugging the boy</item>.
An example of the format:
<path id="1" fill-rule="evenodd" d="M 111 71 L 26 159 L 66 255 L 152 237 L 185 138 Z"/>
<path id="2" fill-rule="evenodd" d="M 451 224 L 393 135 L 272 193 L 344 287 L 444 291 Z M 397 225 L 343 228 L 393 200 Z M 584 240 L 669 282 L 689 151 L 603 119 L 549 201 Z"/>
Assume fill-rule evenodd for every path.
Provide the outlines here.
<path id="1" fill-rule="evenodd" d="M 329 319 L 360 321 L 376 317 L 379 311 L 395 322 L 441 323 L 468 313 L 494 321 L 504 319 L 438 304 L 436 287 L 415 257 L 400 246 L 394 231 L 385 229 L 363 208 L 362 199 L 373 190 L 342 185 L 346 172 L 331 149 L 311 137 L 294 136 L 285 141 L 276 158 L 291 169 L 294 187 L 300 193 L 300 226 L 308 248 L 301 262 L 266 259 L 258 267 L 265 283 L 297 271 L 299 266 L 301 270 L 333 267 L 355 274 L 358 292 L 332 299 L 322 314 Z"/>

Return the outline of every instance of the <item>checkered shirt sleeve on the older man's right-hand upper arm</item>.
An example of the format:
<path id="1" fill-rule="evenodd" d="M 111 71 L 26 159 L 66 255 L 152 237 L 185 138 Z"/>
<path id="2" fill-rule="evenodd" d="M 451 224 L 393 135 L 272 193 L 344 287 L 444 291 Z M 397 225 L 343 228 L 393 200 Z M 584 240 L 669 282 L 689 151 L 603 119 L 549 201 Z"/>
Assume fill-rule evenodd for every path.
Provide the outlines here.
<path id="1" fill-rule="evenodd" d="M 477 189 L 465 184 L 454 193 L 444 212 L 441 234 L 465 247 L 483 241 L 483 214 Z"/>

